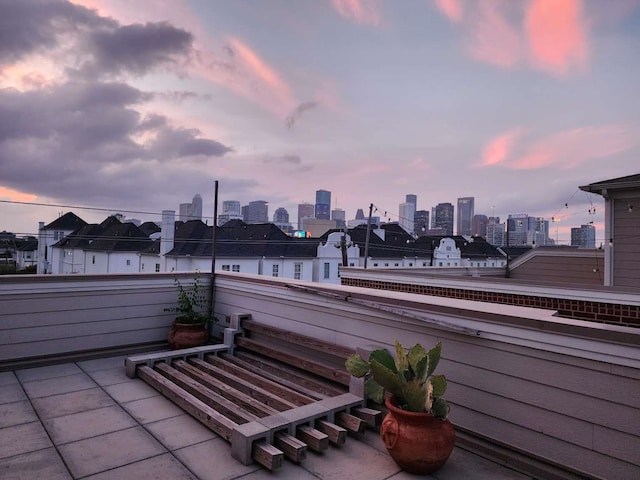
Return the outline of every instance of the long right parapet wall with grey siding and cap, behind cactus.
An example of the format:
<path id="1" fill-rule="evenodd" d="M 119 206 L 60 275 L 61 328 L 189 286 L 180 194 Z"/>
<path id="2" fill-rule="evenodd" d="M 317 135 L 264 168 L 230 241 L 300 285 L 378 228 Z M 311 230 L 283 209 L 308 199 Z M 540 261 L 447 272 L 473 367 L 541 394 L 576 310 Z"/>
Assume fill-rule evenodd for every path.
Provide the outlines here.
<path id="1" fill-rule="evenodd" d="M 592 478 L 639 478 L 637 329 L 603 325 L 586 340 L 581 328 L 595 329 L 583 322 L 574 322 L 582 326 L 576 330 L 559 324 L 560 331 L 546 331 L 557 319 L 525 307 L 309 284 L 412 314 L 399 316 L 292 290 L 284 281 L 258 282 L 219 276 L 216 311 L 250 313 L 259 322 L 352 348 L 391 348 L 394 338 L 406 346 L 442 340 L 439 371 L 447 375 L 450 418 L 458 428 Z M 429 321 L 477 329 L 480 335 Z M 598 338 L 611 332 L 621 336 Z"/>

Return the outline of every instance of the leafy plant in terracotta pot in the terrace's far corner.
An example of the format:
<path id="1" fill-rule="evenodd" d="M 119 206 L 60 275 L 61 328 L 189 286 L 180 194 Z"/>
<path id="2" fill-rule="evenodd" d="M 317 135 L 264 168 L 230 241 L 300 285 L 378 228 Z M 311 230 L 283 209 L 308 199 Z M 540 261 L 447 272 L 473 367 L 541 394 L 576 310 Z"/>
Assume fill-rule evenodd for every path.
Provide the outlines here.
<path id="1" fill-rule="evenodd" d="M 165 308 L 165 312 L 178 314 L 169 331 L 169 347 L 172 350 L 206 345 L 209 341 L 209 323 L 215 321 L 206 313 L 208 299 L 200 288 L 200 272 L 196 271 L 193 282 L 183 286 L 175 279 L 178 287 L 178 304 Z"/>

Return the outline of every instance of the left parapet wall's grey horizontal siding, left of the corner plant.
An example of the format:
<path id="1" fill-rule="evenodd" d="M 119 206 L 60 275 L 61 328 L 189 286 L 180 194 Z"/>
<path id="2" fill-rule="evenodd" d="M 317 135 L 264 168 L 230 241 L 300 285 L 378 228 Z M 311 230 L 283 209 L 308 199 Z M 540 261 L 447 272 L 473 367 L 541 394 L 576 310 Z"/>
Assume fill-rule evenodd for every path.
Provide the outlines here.
<path id="1" fill-rule="evenodd" d="M 184 282 L 193 278 L 193 274 L 178 276 Z M 175 317 L 164 311 L 176 305 L 175 278 L 173 274 L 5 276 L 0 281 L 0 365 L 164 342 Z M 201 280 L 208 288 L 208 277 Z"/>

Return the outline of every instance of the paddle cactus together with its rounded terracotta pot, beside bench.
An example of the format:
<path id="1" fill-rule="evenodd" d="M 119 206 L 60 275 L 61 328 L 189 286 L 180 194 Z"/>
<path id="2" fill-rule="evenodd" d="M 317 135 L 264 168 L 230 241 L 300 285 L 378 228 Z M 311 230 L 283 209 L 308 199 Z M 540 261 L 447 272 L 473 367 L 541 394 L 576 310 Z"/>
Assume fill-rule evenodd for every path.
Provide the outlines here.
<path id="1" fill-rule="evenodd" d="M 376 403 L 385 402 L 389 413 L 380 428 L 382 440 L 395 462 L 407 472 L 425 475 L 439 469 L 451 455 L 455 431 L 447 416 L 443 395 L 444 375 L 434 375 L 441 343 L 430 350 L 416 344 L 408 351 L 395 341 L 395 359 L 384 349 L 374 350 L 365 361 L 351 355 L 349 373 L 368 376 L 365 393 Z"/>

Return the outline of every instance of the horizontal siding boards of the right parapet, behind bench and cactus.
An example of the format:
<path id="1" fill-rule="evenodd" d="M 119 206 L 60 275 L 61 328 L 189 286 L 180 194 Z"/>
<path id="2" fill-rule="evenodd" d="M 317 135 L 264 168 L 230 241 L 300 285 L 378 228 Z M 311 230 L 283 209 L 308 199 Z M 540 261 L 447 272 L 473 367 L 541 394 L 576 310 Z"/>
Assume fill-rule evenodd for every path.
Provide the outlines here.
<path id="1" fill-rule="evenodd" d="M 514 345 L 489 334 L 474 337 L 443 330 L 418 319 L 282 286 L 241 283 L 218 277 L 218 312 L 250 313 L 258 322 L 349 348 L 391 348 L 394 338 L 406 346 L 442 340 L 439 370 L 449 382 L 450 418 L 458 428 L 593 478 L 638 478 L 638 368 L 559 354 L 545 345 Z M 366 291 L 381 304 L 403 306 L 389 292 L 349 291 Z M 431 312 L 428 299 L 419 295 L 406 298 L 412 306 L 414 301 L 424 302 L 422 313 L 427 316 L 442 312 L 442 308 Z M 464 302 L 460 305 L 463 312 Z M 523 315 L 526 310 L 522 309 Z M 477 328 L 482 330 L 482 324 Z"/>

